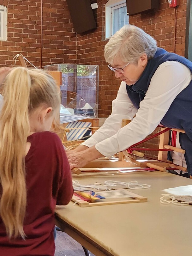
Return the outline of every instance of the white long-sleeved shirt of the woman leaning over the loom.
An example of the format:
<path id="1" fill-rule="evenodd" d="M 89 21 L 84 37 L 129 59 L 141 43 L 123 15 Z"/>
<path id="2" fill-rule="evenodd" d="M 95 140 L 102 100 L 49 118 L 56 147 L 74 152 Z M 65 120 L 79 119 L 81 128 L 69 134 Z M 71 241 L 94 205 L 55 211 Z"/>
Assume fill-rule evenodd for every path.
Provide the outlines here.
<path id="1" fill-rule="evenodd" d="M 177 61 L 164 62 L 155 71 L 138 110 L 129 99 L 126 83 L 121 82 L 117 97 L 112 101 L 111 115 L 82 145 L 95 145 L 102 155 L 111 156 L 143 140 L 159 125 L 171 103 L 191 79 L 191 72 L 185 65 Z M 132 119 L 134 116 L 131 123 L 121 128 L 122 119 Z"/>

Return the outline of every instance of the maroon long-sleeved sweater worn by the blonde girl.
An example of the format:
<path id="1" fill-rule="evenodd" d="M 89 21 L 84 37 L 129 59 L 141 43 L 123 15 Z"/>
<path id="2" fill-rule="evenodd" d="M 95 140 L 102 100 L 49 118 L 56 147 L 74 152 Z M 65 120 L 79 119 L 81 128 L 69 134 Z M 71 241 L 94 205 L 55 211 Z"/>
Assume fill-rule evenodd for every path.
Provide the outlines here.
<path id="1" fill-rule="evenodd" d="M 69 162 L 59 137 L 49 131 L 28 137 L 31 147 L 25 158 L 27 209 L 26 240 L 9 241 L 0 216 L 1 256 L 53 256 L 55 205 L 66 205 L 73 195 Z M 2 187 L 0 185 L 0 197 Z"/>

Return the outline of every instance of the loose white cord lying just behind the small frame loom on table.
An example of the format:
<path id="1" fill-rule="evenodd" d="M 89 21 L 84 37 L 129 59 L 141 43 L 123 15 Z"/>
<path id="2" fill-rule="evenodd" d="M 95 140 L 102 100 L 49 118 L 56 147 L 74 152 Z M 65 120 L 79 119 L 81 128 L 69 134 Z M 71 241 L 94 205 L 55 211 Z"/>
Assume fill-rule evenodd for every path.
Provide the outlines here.
<path id="1" fill-rule="evenodd" d="M 115 181 L 115 180 L 107 180 L 105 182 L 100 182 L 100 183 L 95 183 L 94 185 L 102 185 L 102 186 L 124 186 L 129 189 L 144 189 L 144 188 L 149 188 L 151 185 L 143 184 L 143 183 L 138 183 L 138 181 L 133 180 L 130 182 L 123 182 L 123 181 Z"/>

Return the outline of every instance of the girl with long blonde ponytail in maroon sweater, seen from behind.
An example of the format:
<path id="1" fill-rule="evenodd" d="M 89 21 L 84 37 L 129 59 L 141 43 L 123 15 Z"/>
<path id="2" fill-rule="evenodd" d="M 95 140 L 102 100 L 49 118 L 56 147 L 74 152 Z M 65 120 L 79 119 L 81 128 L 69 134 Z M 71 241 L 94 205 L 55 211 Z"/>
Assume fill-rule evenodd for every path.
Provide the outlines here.
<path id="1" fill-rule="evenodd" d="M 0 113 L 0 255 L 53 256 L 55 205 L 72 194 L 69 163 L 50 132 L 60 106 L 53 78 L 16 67 L 4 80 Z"/>

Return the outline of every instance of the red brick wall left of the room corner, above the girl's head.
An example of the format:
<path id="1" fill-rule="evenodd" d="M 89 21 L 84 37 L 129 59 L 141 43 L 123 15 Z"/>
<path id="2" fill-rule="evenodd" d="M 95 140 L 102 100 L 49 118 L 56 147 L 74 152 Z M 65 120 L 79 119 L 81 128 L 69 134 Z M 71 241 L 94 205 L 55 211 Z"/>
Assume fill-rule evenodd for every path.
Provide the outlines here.
<path id="1" fill-rule="evenodd" d="M 41 0 L 0 0 L 8 7 L 8 40 L 0 41 L 0 65 L 23 53 L 40 67 Z M 66 0 L 43 1 L 42 66 L 76 62 L 76 34 Z"/>

